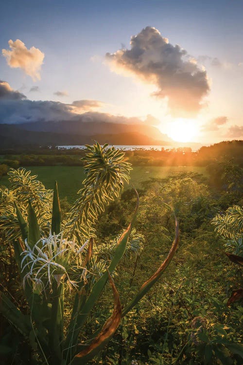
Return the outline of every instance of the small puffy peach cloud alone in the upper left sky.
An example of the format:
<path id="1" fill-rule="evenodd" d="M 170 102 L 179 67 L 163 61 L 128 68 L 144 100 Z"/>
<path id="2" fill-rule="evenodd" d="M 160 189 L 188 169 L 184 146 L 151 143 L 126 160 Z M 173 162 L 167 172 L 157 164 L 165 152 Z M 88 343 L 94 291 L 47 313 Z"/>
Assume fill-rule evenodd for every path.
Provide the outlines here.
<path id="1" fill-rule="evenodd" d="M 20 68 L 35 81 L 40 80 L 40 69 L 45 57 L 38 48 L 31 47 L 29 50 L 25 44 L 16 39 L 8 41 L 10 50 L 2 49 L 2 55 L 6 58 L 11 68 Z"/>

